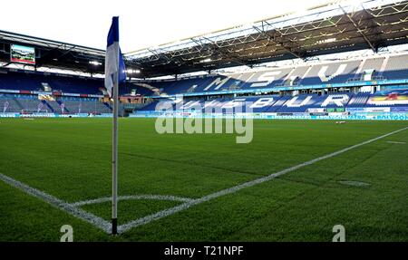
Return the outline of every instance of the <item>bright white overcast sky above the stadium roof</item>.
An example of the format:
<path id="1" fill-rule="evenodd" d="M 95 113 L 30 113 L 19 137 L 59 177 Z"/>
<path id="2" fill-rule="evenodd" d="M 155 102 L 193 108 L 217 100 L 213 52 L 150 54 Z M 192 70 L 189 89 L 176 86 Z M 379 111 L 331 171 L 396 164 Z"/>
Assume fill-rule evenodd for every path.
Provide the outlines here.
<path id="1" fill-rule="evenodd" d="M 119 15 L 121 50 L 129 53 L 327 2 L 7 0 L 1 3 L 0 30 L 104 49 L 112 16 Z"/>

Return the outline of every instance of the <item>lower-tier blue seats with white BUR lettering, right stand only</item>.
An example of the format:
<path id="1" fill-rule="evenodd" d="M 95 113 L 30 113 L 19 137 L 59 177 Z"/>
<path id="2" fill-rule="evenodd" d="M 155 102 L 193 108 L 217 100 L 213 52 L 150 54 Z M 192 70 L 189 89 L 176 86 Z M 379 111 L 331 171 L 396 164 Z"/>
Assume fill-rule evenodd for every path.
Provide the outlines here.
<path id="1" fill-rule="evenodd" d="M 172 111 L 201 112 L 313 112 L 330 111 L 330 109 L 361 107 L 408 107 L 408 91 L 378 91 L 351 93 L 338 92 L 326 95 L 304 94 L 297 96 L 255 96 L 237 97 L 235 99 L 216 99 L 213 101 L 154 101 L 137 112 L 155 111 L 158 104 Z M 207 108 L 207 110 L 206 110 Z M 210 110 L 209 110 L 210 109 Z M 232 110 L 231 110 L 232 109 Z M 340 110 L 342 111 L 342 110 Z"/>

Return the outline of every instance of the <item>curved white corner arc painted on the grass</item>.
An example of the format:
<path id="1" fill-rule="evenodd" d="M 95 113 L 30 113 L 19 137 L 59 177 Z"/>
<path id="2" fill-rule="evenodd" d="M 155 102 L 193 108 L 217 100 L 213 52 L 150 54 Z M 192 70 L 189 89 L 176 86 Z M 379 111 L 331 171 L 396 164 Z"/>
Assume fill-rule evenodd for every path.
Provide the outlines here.
<path id="1" fill-rule="evenodd" d="M 118 200 L 136 200 L 136 199 L 151 199 L 151 200 L 172 200 L 172 201 L 180 201 L 180 202 L 189 202 L 193 200 L 193 198 L 189 197 L 176 197 L 176 196 L 169 196 L 169 195 L 130 195 L 130 196 L 120 196 Z M 90 204 L 97 204 L 103 202 L 111 202 L 112 197 L 100 197 L 95 199 L 83 200 L 72 203 L 71 206 L 73 207 L 81 207 L 83 205 L 90 205 Z"/>

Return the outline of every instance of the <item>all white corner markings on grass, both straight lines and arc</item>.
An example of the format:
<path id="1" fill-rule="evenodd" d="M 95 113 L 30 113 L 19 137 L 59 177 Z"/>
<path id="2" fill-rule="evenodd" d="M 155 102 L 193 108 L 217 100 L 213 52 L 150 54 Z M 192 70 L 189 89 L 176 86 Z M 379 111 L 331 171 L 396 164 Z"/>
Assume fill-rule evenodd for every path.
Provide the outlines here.
<path id="1" fill-rule="evenodd" d="M 257 178 L 257 179 L 245 182 L 243 184 L 239 184 L 238 186 L 234 186 L 232 188 L 226 188 L 226 189 L 220 190 L 218 192 L 215 192 L 215 193 L 212 193 L 212 194 L 209 194 L 207 196 L 200 197 L 200 198 L 197 198 L 197 199 L 191 199 L 191 198 L 188 198 L 188 197 L 160 196 L 160 195 L 122 196 L 121 199 L 143 199 L 143 198 L 145 198 L 145 199 L 164 199 L 164 200 L 181 201 L 181 202 L 184 202 L 184 203 L 180 204 L 179 206 L 171 207 L 171 208 L 162 210 L 160 212 L 157 212 L 155 214 L 152 214 L 152 215 L 149 215 L 149 216 L 146 216 L 146 217 L 141 217 L 141 218 L 136 219 L 134 221 L 131 221 L 131 222 L 127 223 L 127 224 L 118 226 L 118 232 L 119 233 L 126 232 L 129 229 L 131 229 L 132 227 L 145 225 L 145 224 L 150 223 L 153 220 L 157 220 L 157 219 L 160 219 L 162 217 L 168 217 L 168 216 L 170 216 L 172 214 L 175 214 L 175 213 L 180 212 L 182 210 L 188 209 L 189 207 L 193 207 L 193 206 L 201 204 L 203 202 L 207 202 L 207 201 L 209 201 L 209 200 L 211 200 L 213 198 L 217 198 L 217 197 L 221 197 L 221 196 L 224 196 L 224 195 L 235 193 L 235 192 L 237 192 L 238 190 L 240 190 L 242 188 L 248 188 L 248 187 L 255 186 L 257 184 L 266 182 L 266 181 L 268 181 L 270 179 L 277 178 L 277 177 L 279 177 L 281 175 L 287 174 L 288 172 L 294 171 L 296 169 L 304 168 L 304 167 L 306 167 L 308 165 L 311 165 L 311 164 L 314 164 L 314 163 L 316 163 L 316 162 L 318 162 L 320 160 L 335 157 L 335 156 L 337 156 L 339 154 L 345 153 L 348 150 L 356 149 L 356 148 L 361 147 L 361 146 L 363 146 L 365 144 L 374 142 L 376 140 L 384 139 L 385 137 L 388 137 L 388 136 L 393 135 L 393 134 L 395 134 L 397 132 L 407 130 L 407 129 L 408 129 L 408 127 L 405 127 L 405 128 L 403 128 L 401 130 L 394 130 L 393 132 L 384 134 L 384 135 L 382 135 L 380 137 L 377 137 L 377 138 L 374 138 L 372 140 L 366 140 L 366 141 L 364 141 L 362 143 L 356 144 L 354 146 L 351 146 L 351 147 L 348 147 L 348 148 L 345 148 L 345 149 L 340 149 L 338 151 L 335 151 L 333 153 L 327 154 L 325 156 L 322 156 L 322 157 L 319 157 L 319 158 L 316 158 L 316 159 L 306 161 L 306 162 L 298 164 L 298 165 L 296 165 L 294 167 L 291 167 L 291 168 L 288 168 L 288 169 L 283 169 L 281 171 L 278 171 L 278 172 L 273 173 L 271 175 L 268 175 L 266 177 Z M 92 215 L 91 213 L 88 213 L 88 212 L 84 211 L 81 208 L 78 208 L 80 206 L 87 205 L 87 204 L 110 201 L 111 197 L 102 197 L 102 198 L 96 198 L 96 199 L 92 199 L 92 200 L 85 200 L 85 201 L 80 201 L 80 202 L 69 204 L 69 203 L 64 202 L 63 200 L 61 200 L 61 199 L 59 199 L 57 197 L 53 197 L 52 195 L 46 194 L 45 192 L 43 192 L 41 190 L 38 190 L 36 188 L 32 188 L 32 187 L 30 187 L 30 186 L 28 186 L 28 185 L 26 185 L 26 184 L 24 184 L 24 183 L 22 183 L 22 182 L 20 182 L 18 180 L 15 180 L 14 178 L 7 177 L 2 173 L 0 173 L 0 179 L 3 180 L 5 183 L 7 183 L 8 185 L 10 185 L 12 187 L 18 188 L 18 189 L 24 191 L 25 193 L 27 193 L 27 194 L 29 194 L 31 196 L 40 198 L 44 202 L 52 205 L 53 207 L 57 207 L 57 208 L 65 211 L 65 212 L 71 214 L 73 217 L 81 218 L 84 221 L 92 224 L 93 226 L 97 226 L 97 227 L 101 228 L 104 232 L 106 232 L 108 234 L 111 233 L 111 227 L 112 226 L 111 226 L 110 222 L 102 219 L 101 217 L 96 217 L 96 216 Z"/>

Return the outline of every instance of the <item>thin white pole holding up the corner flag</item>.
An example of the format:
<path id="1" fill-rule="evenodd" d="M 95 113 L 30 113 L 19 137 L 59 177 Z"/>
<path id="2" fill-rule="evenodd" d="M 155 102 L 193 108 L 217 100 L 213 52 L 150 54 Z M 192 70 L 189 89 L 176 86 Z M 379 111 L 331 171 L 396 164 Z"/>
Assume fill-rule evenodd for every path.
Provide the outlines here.
<path id="1" fill-rule="evenodd" d="M 118 52 L 119 53 L 119 44 Z M 117 60 L 119 68 L 119 56 Z M 118 234 L 118 111 L 119 71 L 113 79 L 113 132 L 112 132 L 112 235 Z"/>

